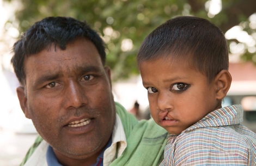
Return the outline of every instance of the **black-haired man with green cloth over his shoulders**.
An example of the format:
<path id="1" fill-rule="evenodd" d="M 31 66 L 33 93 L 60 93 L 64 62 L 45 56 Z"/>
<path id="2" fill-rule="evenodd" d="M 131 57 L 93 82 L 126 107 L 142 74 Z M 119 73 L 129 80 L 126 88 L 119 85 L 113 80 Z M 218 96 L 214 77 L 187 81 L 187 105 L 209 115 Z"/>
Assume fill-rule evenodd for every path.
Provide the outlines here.
<path id="1" fill-rule="evenodd" d="M 105 47 L 86 23 L 47 17 L 14 44 L 20 105 L 38 131 L 21 165 L 159 165 L 167 132 L 113 100 Z"/>

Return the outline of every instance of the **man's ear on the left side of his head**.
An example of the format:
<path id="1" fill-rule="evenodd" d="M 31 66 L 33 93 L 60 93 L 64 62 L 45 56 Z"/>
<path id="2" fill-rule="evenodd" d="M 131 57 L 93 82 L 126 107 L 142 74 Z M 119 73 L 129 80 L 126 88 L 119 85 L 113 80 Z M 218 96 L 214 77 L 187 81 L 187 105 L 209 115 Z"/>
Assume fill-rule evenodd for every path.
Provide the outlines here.
<path id="1" fill-rule="evenodd" d="M 23 87 L 18 87 L 16 89 L 16 91 L 17 91 L 17 95 L 18 95 L 18 98 L 19 98 L 19 101 L 20 101 L 20 106 L 21 106 L 21 109 L 23 110 L 23 113 L 25 114 L 25 116 L 28 119 L 31 119 L 30 116 L 29 116 L 29 113 L 28 113 L 27 97 L 26 97 L 26 94 L 25 94 L 25 89 Z"/>

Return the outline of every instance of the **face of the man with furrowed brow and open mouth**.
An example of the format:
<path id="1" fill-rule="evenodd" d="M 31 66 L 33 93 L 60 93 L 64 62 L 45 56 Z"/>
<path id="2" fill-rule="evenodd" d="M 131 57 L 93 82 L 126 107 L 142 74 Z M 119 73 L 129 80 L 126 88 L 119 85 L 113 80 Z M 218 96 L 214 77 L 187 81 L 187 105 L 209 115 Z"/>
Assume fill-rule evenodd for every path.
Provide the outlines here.
<path id="1" fill-rule="evenodd" d="M 94 44 L 76 39 L 66 50 L 52 45 L 24 65 L 26 97 L 20 101 L 40 136 L 64 156 L 99 153 L 111 137 L 115 106 L 110 71 Z"/>

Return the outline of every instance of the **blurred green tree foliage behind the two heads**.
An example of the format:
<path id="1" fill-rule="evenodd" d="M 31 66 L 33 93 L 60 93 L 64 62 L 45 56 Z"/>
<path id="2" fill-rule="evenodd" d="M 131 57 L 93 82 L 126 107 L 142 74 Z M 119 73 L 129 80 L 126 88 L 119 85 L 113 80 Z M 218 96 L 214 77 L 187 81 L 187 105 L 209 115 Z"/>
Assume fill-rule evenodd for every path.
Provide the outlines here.
<path id="1" fill-rule="evenodd" d="M 14 1 L 14 0 L 5 0 Z M 205 9 L 206 0 L 16 0 L 21 3 L 16 11 L 19 30 L 23 32 L 34 22 L 47 16 L 70 16 L 86 20 L 106 42 L 107 65 L 113 70 L 113 80 L 138 73 L 136 53 L 144 38 L 164 21 L 178 15 L 194 15 L 215 23 L 223 32 L 243 23 L 249 35 L 248 17 L 256 12 L 255 0 L 222 0 L 222 10 L 215 15 Z M 210 1 L 208 1 L 209 3 Z M 256 36 L 255 36 L 256 38 Z M 237 44 L 231 39 L 228 42 Z M 252 60 L 253 53 L 246 49 L 243 59 Z"/>

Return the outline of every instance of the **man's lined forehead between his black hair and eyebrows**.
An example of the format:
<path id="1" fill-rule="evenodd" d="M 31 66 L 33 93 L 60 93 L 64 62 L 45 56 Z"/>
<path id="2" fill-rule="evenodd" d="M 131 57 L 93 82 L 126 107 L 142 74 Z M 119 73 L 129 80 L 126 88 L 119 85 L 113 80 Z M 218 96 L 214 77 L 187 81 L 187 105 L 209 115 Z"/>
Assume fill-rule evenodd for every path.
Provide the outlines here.
<path id="1" fill-rule="evenodd" d="M 92 42 L 85 39 L 77 39 L 66 45 L 65 50 L 59 47 L 42 50 L 25 58 L 26 76 L 47 72 L 72 72 L 92 69 L 103 70 L 99 52 Z M 85 69 L 87 68 L 87 69 Z"/>

